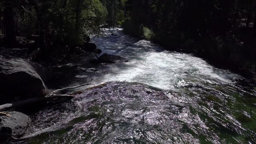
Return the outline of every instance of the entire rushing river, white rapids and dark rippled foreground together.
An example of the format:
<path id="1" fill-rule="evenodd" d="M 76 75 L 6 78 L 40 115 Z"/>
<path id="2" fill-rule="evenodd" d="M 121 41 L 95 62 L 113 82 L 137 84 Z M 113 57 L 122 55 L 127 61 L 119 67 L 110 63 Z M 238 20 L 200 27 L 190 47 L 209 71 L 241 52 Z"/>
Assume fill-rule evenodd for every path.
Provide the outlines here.
<path id="1" fill-rule="evenodd" d="M 31 116 L 32 126 L 19 143 L 256 143 L 256 120 L 250 116 L 251 109 L 256 118 L 256 90 L 244 78 L 192 54 L 116 33 L 106 30 L 92 41 L 103 53 L 129 62 L 77 74 L 76 81 L 108 83 Z M 83 62 L 82 70 L 88 68 Z"/>

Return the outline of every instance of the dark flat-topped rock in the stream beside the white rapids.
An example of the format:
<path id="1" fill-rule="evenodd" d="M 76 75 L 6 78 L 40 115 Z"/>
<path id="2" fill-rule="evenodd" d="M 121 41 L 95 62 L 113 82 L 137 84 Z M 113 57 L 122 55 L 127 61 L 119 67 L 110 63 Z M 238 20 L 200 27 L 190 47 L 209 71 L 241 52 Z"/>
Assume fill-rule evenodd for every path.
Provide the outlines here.
<path id="1" fill-rule="evenodd" d="M 102 54 L 100 57 L 98 57 L 98 60 L 101 63 L 116 63 L 116 62 L 128 62 L 126 58 L 123 58 L 121 56 L 115 56 L 112 54 Z"/>

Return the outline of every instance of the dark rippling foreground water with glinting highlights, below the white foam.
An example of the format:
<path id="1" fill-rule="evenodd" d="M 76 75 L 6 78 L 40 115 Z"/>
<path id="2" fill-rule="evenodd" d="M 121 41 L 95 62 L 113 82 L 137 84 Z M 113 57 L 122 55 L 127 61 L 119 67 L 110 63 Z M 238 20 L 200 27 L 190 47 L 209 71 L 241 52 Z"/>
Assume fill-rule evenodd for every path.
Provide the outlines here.
<path id="1" fill-rule="evenodd" d="M 50 129 L 24 142 L 256 142 L 255 132 L 248 132 L 248 127 L 236 120 L 221 92 L 215 97 L 209 95 L 214 93 L 212 91 L 201 95 L 196 91 L 169 91 L 138 83 L 108 82 L 76 95 L 72 101 L 77 104 L 66 102 L 55 107 L 63 107 L 62 110 L 46 108 L 36 114 L 32 118 L 34 127 L 29 131 Z M 74 114 L 78 109 L 79 114 Z M 45 122 L 50 123 L 46 125 Z"/>

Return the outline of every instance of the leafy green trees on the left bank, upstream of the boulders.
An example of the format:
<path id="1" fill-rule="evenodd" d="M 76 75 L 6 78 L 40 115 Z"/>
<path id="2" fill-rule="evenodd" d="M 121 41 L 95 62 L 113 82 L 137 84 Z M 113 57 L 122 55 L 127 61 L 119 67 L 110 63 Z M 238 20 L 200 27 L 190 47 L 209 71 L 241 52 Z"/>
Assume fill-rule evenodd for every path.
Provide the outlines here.
<path id="1" fill-rule="evenodd" d="M 4 2 L 0 2 L 3 10 Z M 15 20 L 22 36 L 43 31 L 45 41 L 83 44 L 84 36 L 100 34 L 107 9 L 100 0 L 28 0 L 12 2 Z"/>

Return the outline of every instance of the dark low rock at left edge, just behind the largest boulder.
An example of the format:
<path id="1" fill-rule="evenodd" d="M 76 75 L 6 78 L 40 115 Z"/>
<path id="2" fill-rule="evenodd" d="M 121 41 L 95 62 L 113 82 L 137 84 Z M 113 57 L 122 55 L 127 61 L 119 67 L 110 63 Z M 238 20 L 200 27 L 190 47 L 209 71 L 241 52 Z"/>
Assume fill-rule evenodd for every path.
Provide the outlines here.
<path id="1" fill-rule="evenodd" d="M 0 52 L 0 54 L 8 54 L 10 56 L 16 56 L 18 58 L 28 57 L 28 48 L 7 48 Z"/>

